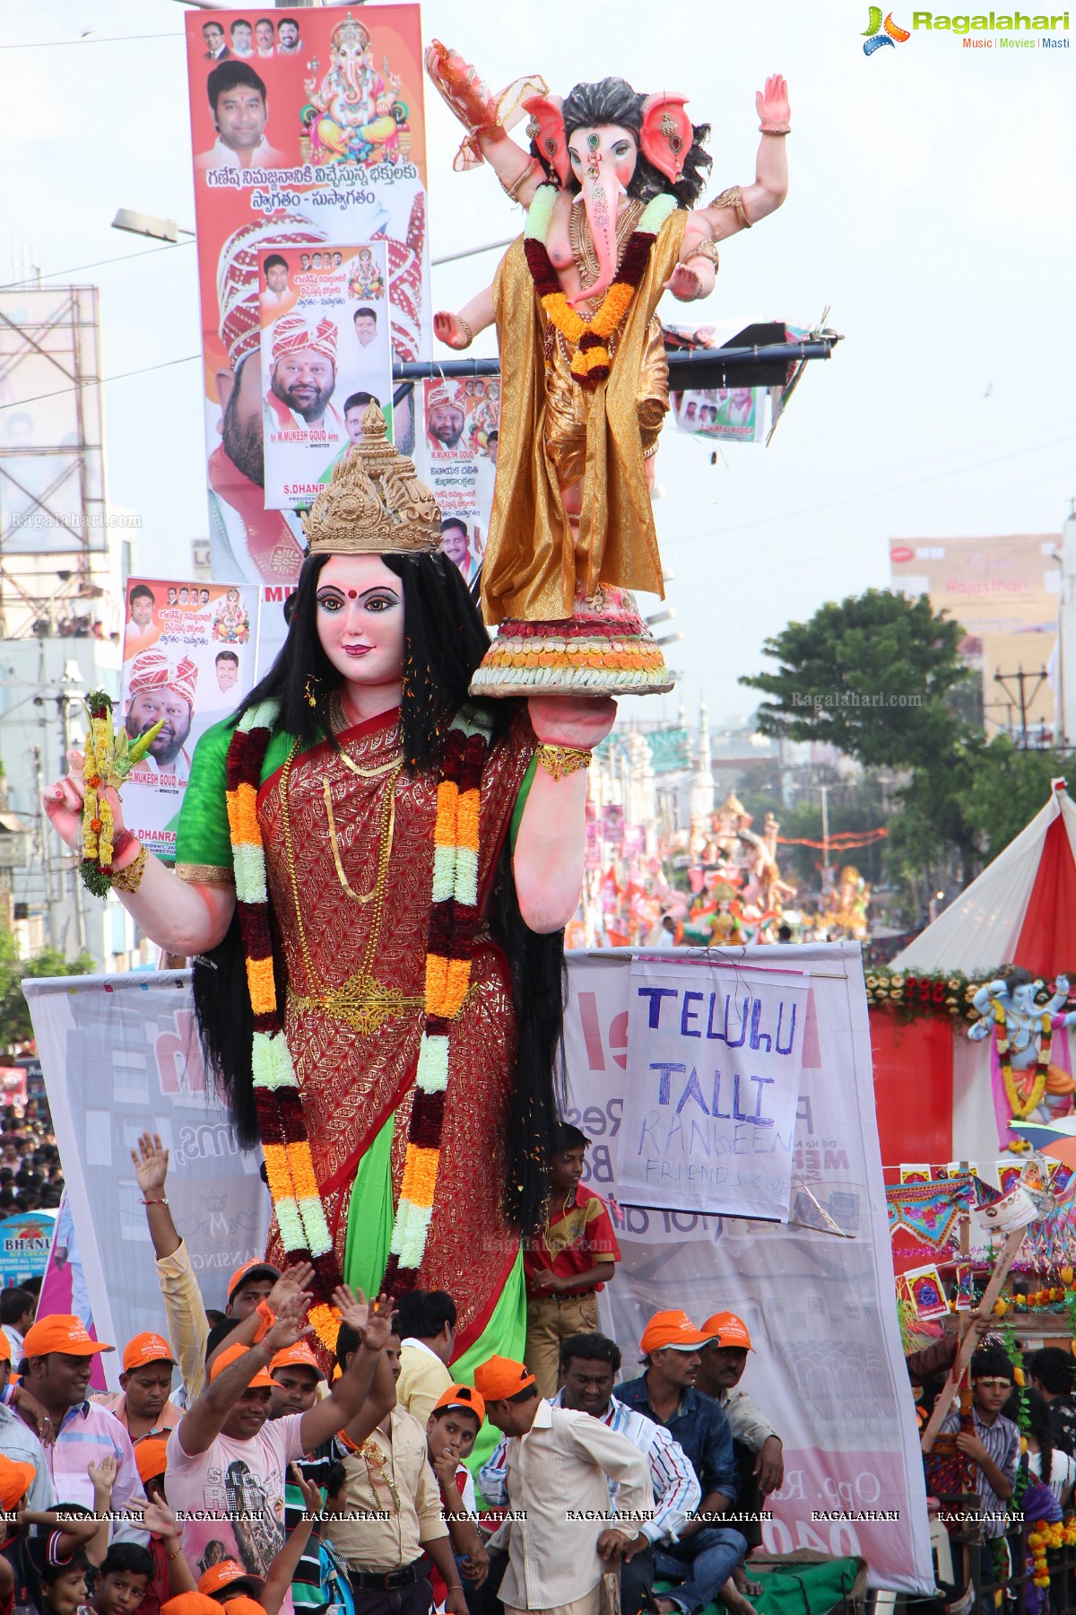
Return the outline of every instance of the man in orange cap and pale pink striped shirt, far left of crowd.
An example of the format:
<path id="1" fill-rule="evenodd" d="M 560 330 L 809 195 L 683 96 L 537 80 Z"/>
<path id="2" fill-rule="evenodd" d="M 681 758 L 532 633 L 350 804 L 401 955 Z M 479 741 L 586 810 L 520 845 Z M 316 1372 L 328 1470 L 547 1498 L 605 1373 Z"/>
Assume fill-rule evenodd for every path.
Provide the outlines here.
<path id="1" fill-rule="evenodd" d="M 134 1462 L 131 1436 L 119 1420 L 100 1403 L 87 1400 L 90 1358 L 98 1352 L 115 1352 L 115 1345 L 94 1340 L 81 1318 L 52 1313 L 39 1318 L 23 1340 L 23 1382 L 52 1420 L 55 1442 L 45 1450 L 45 1463 L 56 1495 L 69 1504 L 94 1508 L 94 1481 L 89 1463 L 116 1460 L 111 1507 L 136 1513 L 145 1505 L 145 1492 Z M 126 1520 L 113 1523 L 113 1541 L 139 1542 L 145 1547 L 147 1531 Z"/>

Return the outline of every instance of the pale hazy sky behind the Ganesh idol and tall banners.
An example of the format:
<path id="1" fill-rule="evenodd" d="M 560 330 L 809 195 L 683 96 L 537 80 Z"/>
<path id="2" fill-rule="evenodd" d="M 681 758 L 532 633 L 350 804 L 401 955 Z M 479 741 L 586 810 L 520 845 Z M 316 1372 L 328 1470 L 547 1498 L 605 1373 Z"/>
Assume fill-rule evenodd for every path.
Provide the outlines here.
<path id="1" fill-rule="evenodd" d="M 0 19 L 0 281 L 29 252 L 50 284 L 102 287 L 108 494 L 142 518 L 144 575 L 186 570 L 208 530 L 195 249 L 110 228 L 118 207 L 194 228 L 184 10 L 44 0 Z M 894 16 L 910 27 L 910 10 Z M 732 336 L 829 305 L 845 341 L 808 368 L 769 447 L 726 446 L 711 465 L 666 426 L 655 514 L 681 682 L 621 715 L 673 717 L 681 699 L 694 715 L 705 698 L 716 724 L 747 717 L 757 698 L 737 680 L 766 665 L 766 636 L 886 586 L 890 538 L 1058 533 L 1076 496 L 1076 48 L 971 50 L 920 29 L 866 58 L 866 26 L 865 0 L 423 5 L 424 39 L 497 89 L 537 71 L 560 94 L 619 74 L 689 95 L 713 126 L 713 194 L 753 178 L 755 90 L 789 81 L 787 202 L 721 249 L 705 304 L 661 312 Z M 460 131 L 429 84 L 426 107 L 432 257 L 518 234 L 489 168 L 453 173 Z M 461 307 L 495 262 L 436 268 L 434 308 Z M 492 333 L 473 349 L 492 350 Z"/>

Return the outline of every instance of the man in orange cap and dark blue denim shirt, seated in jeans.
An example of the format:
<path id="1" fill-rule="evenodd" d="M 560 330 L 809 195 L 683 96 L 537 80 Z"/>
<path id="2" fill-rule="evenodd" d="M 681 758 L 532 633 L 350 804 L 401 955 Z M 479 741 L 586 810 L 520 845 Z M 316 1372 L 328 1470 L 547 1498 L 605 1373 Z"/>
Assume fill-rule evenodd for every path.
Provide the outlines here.
<path id="1" fill-rule="evenodd" d="M 686 1311 L 655 1313 L 639 1340 L 644 1373 L 616 1386 L 615 1392 L 629 1408 L 665 1424 L 690 1458 L 702 1486 L 699 1513 L 679 1533 L 679 1542 L 655 1550 L 658 1576 L 686 1578 L 668 1594 L 652 1597 L 658 1615 L 695 1615 L 718 1592 L 736 1602 L 736 1589 L 729 1586 L 726 1592 L 726 1583 L 747 1554 L 744 1534 L 719 1523 L 736 1502 L 739 1484 L 729 1424 L 716 1402 L 695 1389 L 700 1352 L 708 1339 Z"/>

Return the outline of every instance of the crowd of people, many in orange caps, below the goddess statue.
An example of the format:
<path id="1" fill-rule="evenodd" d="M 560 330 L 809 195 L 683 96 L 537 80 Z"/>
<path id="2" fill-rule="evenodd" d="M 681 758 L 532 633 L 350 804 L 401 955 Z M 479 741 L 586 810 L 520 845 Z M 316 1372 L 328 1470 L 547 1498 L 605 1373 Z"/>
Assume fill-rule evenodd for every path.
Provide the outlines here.
<path id="1" fill-rule="evenodd" d="M 50 1181 L 55 1143 L 16 1139 L 15 1181 Z M 619 1252 L 581 1182 L 587 1140 L 558 1143 L 524 1360 L 461 1382 L 442 1290 L 340 1287 L 332 1360 L 311 1349 L 310 1266 L 247 1261 L 206 1310 L 168 1151 L 142 1135 L 161 1326 L 119 1347 L 119 1391 L 90 1389 L 116 1347 L 3 1292 L 0 1615 L 598 1615 L 611 1583 L 623 1615 L 718 1597 L 752 1615 L 745 1560 L 782 1463 L 739 1387 L 749 1331 L 660 1311 L 624 1365 L 597 1328 Z"/>

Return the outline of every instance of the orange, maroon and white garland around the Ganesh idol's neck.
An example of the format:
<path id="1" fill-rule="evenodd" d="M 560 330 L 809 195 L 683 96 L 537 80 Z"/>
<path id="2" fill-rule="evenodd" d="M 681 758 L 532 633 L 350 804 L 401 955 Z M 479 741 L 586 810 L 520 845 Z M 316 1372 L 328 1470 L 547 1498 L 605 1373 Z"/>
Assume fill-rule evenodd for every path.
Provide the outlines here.
<path id="1" fill-rule="evenodd" d="M 639 224 L 628 237 L 611 286 L 592 318 L 584 320 L 561 291 L 545 247 L 557 195 L 557 186 L 539 186 L 534 192 L 523 231 L 523 252 L 547 320 L 574 347 L 571 355 L 573 380 L 584 388 L 597 388 L 600 381 L 608 378 L 613 363 L 608 347 L 613 333 L 631 308 L 632 297 L 647 273 L 657 234 L 669 213 L 676 212 L 678 202 L 676 197 L 657 195 L 647 203 Z"/>

